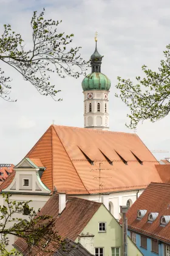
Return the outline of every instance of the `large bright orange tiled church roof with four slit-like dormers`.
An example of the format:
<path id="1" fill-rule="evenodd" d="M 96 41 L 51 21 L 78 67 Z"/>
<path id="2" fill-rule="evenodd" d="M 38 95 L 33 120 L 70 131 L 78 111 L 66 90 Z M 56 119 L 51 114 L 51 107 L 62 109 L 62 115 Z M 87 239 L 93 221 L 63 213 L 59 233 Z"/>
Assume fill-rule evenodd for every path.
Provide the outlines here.
<path id="1" fill-rule="evenodd" d="M 94 166 L 82 151 L 94 161 Z M 117 153 L 127 161 L 127 165 Z M 104 180 L 103 192 L 146 188 L 150 182 L 161 182 L 155 168 L 157 160 L 134 133 L 53 125 L 27 157 L 40 158 L 46 166 L 41 180 L 50 190 L 55 186 L 59 192 L 67 191 L 69 194 L 99 192 L 98 179 L 94 179 L 99 175 L 96 170 L 99 162 L 103 163 L 104 176 L 110 177 Z"/>

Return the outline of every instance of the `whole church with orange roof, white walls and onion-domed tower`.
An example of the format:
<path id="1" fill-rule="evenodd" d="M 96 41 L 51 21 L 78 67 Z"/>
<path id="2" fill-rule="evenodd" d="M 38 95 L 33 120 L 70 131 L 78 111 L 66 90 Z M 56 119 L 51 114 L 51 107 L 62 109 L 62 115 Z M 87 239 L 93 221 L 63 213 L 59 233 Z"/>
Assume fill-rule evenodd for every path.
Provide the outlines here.
<path id="1" fill-rule="evenodd" d="M 120 205 L 130 207 L 149 183 L 162 180 L 159 163 L 136 134 L 109 131 L 110 80 L 95 43 L 92 72 L 82 82 L 84 128 L 50 126 L 0 190 L 15 199 L 27 195 L 38 207 L 58 191 L 103 202 L 120 219 Z"/>

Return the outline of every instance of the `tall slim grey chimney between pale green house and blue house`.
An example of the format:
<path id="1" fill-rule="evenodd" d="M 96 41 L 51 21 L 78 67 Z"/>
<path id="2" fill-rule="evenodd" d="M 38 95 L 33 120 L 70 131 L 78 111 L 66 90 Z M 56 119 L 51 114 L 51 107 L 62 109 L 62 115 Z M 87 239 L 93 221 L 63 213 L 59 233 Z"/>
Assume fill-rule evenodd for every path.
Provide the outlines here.
<path id="1" fill-rule="evenodd" d="M 120 212 L 122 215 L 123 256 L 127 256 L 127 210 L 127 205 L 120 206 Z"/>

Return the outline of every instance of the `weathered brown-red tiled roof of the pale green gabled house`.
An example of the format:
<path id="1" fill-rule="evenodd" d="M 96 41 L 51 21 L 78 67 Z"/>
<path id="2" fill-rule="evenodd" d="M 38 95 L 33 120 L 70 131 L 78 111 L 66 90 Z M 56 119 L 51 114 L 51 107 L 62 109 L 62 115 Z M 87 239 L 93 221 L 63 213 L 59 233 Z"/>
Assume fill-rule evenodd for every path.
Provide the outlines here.
<path id="1" fill-rule="evenodd" d="M 92 216 L 97 212 L 101 203 L 67 196 L 66 208 L 61 215 L 58 215 L 58 201 L 58 194 L 53 194 L 44 207 L 42 207 L 39 214 L 52 216 L 55 219 L 54 229 L 58 231 L 58 235 L 63 239 L 69 238 L 75 241 Z M 27 244 L 24 239 L 18 238 L 15 241 L 15 247 L 24 255 L 27 255 Z"/>

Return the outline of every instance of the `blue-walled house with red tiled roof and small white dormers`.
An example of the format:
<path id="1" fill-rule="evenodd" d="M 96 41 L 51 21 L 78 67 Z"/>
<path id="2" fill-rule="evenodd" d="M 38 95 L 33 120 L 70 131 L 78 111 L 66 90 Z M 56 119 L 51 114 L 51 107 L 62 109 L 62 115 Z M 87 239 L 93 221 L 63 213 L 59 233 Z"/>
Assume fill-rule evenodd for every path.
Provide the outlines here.
<path id="1" fill-rule="evenodd" d="M 170 255 L 170 184 L 151 183 L 126 213 L 128 233 L 146 256 Z"/>

